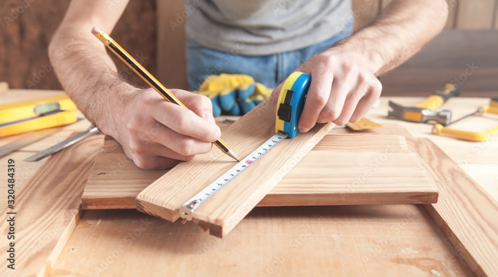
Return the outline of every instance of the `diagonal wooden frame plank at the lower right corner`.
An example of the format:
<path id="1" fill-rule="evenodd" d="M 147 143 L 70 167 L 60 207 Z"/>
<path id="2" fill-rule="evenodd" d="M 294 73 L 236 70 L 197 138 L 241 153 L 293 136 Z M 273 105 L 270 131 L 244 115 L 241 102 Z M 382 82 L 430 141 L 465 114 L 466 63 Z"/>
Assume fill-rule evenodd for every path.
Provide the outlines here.
<path id="1" fill-rule="evenodd" d="M 498 202 L 429 139 L 408 139 L 440 189 L 425 208 L 476 276 L 498 276 Z"/>

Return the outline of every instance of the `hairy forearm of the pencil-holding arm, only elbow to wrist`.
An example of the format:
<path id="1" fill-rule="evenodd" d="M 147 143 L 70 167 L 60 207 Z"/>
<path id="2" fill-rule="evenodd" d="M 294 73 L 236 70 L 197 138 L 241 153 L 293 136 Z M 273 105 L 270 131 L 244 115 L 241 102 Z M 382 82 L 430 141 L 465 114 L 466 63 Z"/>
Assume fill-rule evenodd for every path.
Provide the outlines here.
<path id="1" fill-rule="evenodd" d="M 118 77 L 116 66 L 103 44 L 93 38 L 90 30 L 82 32 L 80 28 L 61 26 L 50 43 L 50 61 L 64 90 L 78 108 L 93 124 L 106 129 L 113 124 L 106 121 L 108 116 L 97 106 L 117 102 L 115 99 L 124 97 L 131 86 Z M 78 42 L 72 43 L 75 33 L 78 33 Z M 69 51 L 67 45 L 71 45 Z"/>

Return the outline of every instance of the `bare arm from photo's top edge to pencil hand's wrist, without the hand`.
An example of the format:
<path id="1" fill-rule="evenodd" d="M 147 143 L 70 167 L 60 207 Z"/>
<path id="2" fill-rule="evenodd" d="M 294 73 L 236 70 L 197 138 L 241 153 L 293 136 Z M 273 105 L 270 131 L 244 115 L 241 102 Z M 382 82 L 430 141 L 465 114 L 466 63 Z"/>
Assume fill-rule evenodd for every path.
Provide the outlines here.
<path id="1" fill-rule="evenodd" d="M 119 108 L 119 97 L 136 90 L 118 78 L 116 66 L 104 45 L 90 30 L 99 25 L 111 32 L 127 0 L 109 5 L 101 0 L 72 0 L 49 45 L 50 62 L 78 108 L 101 130 L 110 134 L 114 126 L 109 113 Z M 124 94 L 124 95 L 123 95 Z M 113 103 L 113 105 L 109 105 Z"/>

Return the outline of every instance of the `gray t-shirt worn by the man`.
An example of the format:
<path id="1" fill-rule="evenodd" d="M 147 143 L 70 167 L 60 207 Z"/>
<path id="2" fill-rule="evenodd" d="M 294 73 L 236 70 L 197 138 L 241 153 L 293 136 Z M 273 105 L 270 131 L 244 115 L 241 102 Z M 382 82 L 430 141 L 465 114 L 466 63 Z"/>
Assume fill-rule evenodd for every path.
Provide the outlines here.
<path id="1" fill-rule="evenodd" d="M 185 0 L 186 33 L 199 44 L 241 55 L 305 48 L 353 21 L 351 0 Z"/>

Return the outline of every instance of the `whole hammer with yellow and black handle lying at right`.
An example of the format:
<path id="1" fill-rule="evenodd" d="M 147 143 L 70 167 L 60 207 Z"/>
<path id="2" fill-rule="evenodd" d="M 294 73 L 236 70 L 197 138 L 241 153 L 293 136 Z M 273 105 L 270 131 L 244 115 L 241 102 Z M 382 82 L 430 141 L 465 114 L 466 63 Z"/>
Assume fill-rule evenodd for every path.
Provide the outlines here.
<path id="1" fill-rule="evenodd" d="M 460 95 L 460 88 L 457 85 L 446 84 L 443 88 L 434 92 L 434 94 L 418 103 L 415 107 L 404 107 L 389 101 L 389 107 L 391 107 L 392 110 L 389 110 L 388 115 L 412 122 L 436 121 L 439 124 L 446 126 L 450 124 L 451 111 L 435 111 L 435 109 L 439 108 L 450 97 L 458 95 Z"/>

